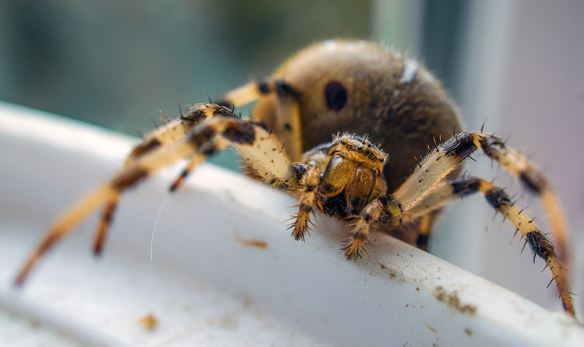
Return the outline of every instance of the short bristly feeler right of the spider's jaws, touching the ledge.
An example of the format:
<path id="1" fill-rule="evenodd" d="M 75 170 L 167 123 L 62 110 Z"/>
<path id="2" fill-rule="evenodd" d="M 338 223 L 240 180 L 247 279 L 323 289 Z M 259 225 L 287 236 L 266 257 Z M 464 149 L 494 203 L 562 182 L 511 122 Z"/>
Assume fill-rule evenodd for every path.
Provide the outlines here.
<path id="1" fill-rule="evenodd" d="M 371 224 L 377 222 L 382 217 L 384 211 L 385 200 L 387 198 L 381 197 L 370 201 L 361 210 L 357 221 L 354 223 L 354 228 L 350 233 L 350 238 L 347 240 L 345 246 L 341 250 L 345 251 L 347 260 L 357 261 L 357 257 L 361 258 L 361 251 L 363 246 L 367 243 L 370 234 Z"/>

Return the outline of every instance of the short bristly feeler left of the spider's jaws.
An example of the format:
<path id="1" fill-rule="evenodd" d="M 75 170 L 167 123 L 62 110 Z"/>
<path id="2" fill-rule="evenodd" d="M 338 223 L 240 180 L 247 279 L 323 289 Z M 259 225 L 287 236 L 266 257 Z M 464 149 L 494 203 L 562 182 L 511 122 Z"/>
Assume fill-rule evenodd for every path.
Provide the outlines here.
<path id="1" fill-rule="evenodd" d="M 317 196 L 318 185 L 321 182 L 319 175 L 320 172 L 318 169 L 308 167 L 303 174 L 303 178 L 300 180 L 300 186 L 304 186 L 304 190 L 300 195 L 298 214 L 289 228 L 293 229 L 292 236 L 296 240 L 304 241 L 304 233 L 308 233 L 310 230 L 308 223 L 310 223 L 310 213 L 312 208 L 314 208 L 314 199 Z"/>

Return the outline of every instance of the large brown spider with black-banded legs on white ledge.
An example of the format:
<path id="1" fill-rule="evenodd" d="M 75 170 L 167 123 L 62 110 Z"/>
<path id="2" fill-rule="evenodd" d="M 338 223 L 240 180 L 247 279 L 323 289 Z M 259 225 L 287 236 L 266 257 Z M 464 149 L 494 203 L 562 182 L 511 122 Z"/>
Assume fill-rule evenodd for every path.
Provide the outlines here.
<path id="1" fill-rule="evenodd" d="M 253 120 L 241 119 L 230 108 L 250 102 L 255 102 Z M 22 285 L 34 265 L 98 208 L 103 210 L 93 250 L 102 253 L 126 190 L 187 158 L 170 187 L 175 192 L 197 164 L 231 146 L 252 176 L 298 199 L 289 228 L 294 239 L 309 235 L 313 211 L 350 222 L 352 231 L 341 249 L 347 260 L 363 256 L 373 229 L 426 249 L 440 210 L 459 197 L 480 192 L 526 239 L 534 259 L 545 260 L 564 310 L 575 316 L 568 276 L 550 239 L 502 188 L 461 176 L 459 169 L 481 150 L 519 178 L 543 200 L 559 253 L 565 256 L 564 217 L 550 183 L 495 134 L 483 129 L 453 132 L 460 128 L 457 114 L 441 84 L 411 58 L 364 41 L 314 44 L 272 76 L 225 94 L 217 104 L 195 104 L 172 121 L 164 119 L 163 126 L 131 151 L 117 175 L 55 221 L 15 284 Z M 322 143 L 331 134 L 333 140 Z M 409 174 L 412 157 L 426 150 Z"/>

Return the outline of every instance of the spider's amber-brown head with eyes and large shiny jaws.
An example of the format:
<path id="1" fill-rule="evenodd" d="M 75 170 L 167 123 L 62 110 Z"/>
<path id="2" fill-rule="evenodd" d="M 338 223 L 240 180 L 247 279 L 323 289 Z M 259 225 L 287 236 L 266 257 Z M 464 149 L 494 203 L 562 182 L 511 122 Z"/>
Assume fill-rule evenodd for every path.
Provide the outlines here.
<path id="1" fill-rule="evenodd" d="M 387 154 L 366 137 L 344 133 L 335 137 L 328 156 L 330 160 L 317 192 L 319 207 L 326 210 L 329 200 L 337 201 L 329 207 L 332 213 L 359 214 L 383 172 Z"/>

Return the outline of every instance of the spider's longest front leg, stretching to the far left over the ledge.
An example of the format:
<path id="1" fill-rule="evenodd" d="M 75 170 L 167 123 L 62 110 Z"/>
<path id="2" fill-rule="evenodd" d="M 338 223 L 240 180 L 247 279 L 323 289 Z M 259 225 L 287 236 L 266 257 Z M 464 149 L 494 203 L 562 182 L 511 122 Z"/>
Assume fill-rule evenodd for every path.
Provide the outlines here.
<path id="1" fill-rule="evenodd" d="M 217 109 L 219 106 L 197 104 L 196 107 Z M 34 265 L 47 252 L 114 194 L 125 192 L 152 173 L 182 158 L 212 151 L 211 148 L 215 147 L 215 137 L 219 137 L 238 150 L 248 164 L 260 175 L 266 176 L 267 180 L 277 179 L 283 185 L 297 187 L 298 169 L 281 150 L 278 141 L 262 126 L 239 119 L 232 112 L 228 115 L 214 116 L 194 126 L 193 130 L 182 139 L 168 146 L 158 146 L 150 153 L 131 161 L 109 182 L 99 186 L 65 211 L 30 254 L 15 279 L 15 285 L 22 285 Z"/>

